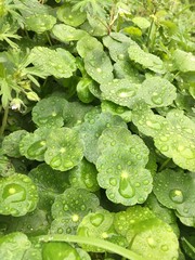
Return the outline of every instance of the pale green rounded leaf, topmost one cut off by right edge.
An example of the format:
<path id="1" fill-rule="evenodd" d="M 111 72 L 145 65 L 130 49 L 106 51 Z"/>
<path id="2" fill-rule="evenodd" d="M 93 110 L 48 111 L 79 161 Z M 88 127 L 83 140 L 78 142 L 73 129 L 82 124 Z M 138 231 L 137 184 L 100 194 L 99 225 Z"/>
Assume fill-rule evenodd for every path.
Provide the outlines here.
<path id="1" fill-rule="evenodd" d="M 182 73 L 195 72 L 195 56 L 191 52 L 176 50 L 172 60 L 178 70 Z"/>

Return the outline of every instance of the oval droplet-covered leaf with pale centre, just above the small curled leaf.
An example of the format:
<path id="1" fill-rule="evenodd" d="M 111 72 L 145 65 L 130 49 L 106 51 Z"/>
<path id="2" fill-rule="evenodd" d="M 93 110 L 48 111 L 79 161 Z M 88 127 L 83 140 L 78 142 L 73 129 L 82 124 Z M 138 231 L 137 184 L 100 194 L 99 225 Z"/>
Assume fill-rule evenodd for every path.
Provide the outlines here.
<path id="1" fill-rule="evenodd" d="M 101 50 L 92 50 L 83 58 L 84 68 L 92 79 L 99 83 L 113 80 L 113 65 L 107 54 Z"/>

